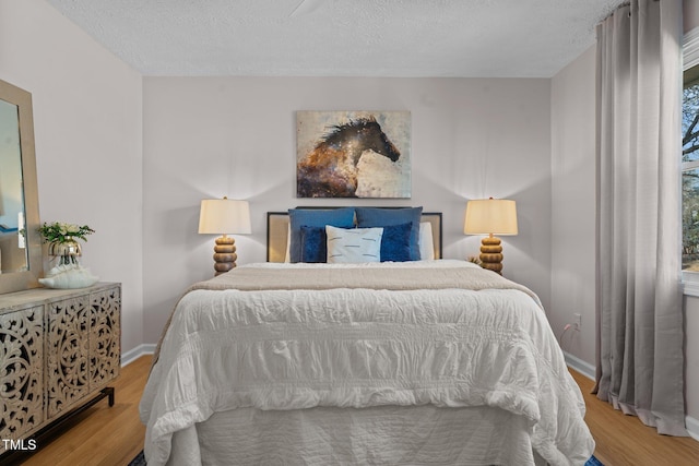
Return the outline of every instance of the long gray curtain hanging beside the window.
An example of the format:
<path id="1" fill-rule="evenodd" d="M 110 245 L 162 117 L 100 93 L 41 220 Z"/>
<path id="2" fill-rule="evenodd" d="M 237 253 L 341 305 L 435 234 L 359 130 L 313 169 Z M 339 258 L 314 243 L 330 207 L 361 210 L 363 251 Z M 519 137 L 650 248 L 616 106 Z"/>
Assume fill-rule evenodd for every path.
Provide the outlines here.
<path id="1" fill-rule="evenodd" d="M 682 0 L 597 27 L 597 397 L 686 435 L 682 310 Z"/>

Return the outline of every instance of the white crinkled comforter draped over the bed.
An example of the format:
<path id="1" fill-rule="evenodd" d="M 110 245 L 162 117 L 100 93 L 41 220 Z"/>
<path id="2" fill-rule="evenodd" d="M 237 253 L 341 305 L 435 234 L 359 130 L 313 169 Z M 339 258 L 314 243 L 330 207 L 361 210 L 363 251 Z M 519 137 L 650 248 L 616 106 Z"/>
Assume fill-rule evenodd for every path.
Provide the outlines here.
<path id="1" fill-rule="evenodd" d="M 372 266 L 429 274 L 471 264 Z M 215 413 L 422 405 L 517 415 L 554 465 L 584 464 L 594 449 L 544 311 L 518 289 L 190 291 L 162 342 L 141 418 L 149 465 L 161 465 L 174 433 Z"/>

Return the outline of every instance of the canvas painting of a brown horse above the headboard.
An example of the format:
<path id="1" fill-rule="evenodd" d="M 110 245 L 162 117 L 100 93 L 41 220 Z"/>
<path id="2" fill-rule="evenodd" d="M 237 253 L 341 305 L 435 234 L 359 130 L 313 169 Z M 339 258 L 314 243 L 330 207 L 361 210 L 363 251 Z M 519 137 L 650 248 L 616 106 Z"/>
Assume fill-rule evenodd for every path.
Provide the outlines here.
<path id="1" fill-rule="evenodd" d="M 298 111 L 298 198 L 411 196 L 410 111 Z"/>

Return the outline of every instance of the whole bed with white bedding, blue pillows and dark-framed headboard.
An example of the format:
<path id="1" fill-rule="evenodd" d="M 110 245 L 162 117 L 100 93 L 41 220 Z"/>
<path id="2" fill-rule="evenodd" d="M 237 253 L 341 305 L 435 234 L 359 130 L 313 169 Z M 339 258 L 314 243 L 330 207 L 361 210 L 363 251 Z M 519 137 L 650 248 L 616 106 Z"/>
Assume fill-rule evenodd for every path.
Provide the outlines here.
<path id="1" fill-rule="evenodd" d="M 312 224 L 336 210 L 295 211 L 268 217 L 266 263 L 194 284 L 176 306 L 140 406 L 149 465 L 582 465 L 592 455 L 582 395 L 541 301 L 440 259 L 439 214 L 415 207 L 403 223 L 393 217 L 410 210 L 354 211 L 352 225 L 324 228 L 330 263 L 299 251 L 286 262 L 299 246 L 311 258 L 328 220 L 301 225 L 313 228 L 294 241 L 297 215 Z M 394 228 L 406 224 L 410 234 Z M 333 235 L 376 240 L 377 228 L 379 255 L 420 260 L 331 260 L 342 250 Z M 389 237 L 400 244 L 384 251 Z"/>

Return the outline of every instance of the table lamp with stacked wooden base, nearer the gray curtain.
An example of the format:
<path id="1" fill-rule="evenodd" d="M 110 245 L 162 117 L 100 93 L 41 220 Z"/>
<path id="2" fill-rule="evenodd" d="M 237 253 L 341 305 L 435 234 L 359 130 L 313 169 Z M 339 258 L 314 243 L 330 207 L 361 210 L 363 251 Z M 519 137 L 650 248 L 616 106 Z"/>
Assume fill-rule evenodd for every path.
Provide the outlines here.
<path id="1" fill-rule="evenodd" d="M 477 199 L 466 204 L 464 235 L 488 235 L 481 241 L 483 268 L 502 275 L 502 246 L 495 235 L 517 235 L 517 205 L 507 199 Z"/>

